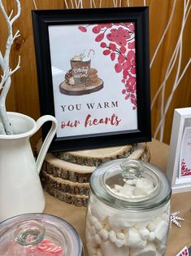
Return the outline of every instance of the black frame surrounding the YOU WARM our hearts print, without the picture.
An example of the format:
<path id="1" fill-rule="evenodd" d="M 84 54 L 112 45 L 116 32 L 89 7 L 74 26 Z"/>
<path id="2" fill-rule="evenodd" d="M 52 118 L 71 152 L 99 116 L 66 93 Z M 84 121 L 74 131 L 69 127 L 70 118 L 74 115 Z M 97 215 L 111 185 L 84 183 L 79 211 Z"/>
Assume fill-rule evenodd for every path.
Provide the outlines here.
<path id="1" fill-rule="evenodd" d="M 37 77 L 41 115 L 50 114 L 56 117 L 54 109 L 53 76 L 51 69 L 50 26 L 52 29 L 60 26 L 89 26 L 101 24 L 134 25 L 135 60 L 136 60 L 136 96 L 137 96 L 137 127 L 136 129 L 109 130 L 89 134 L 55 135 L 50 145 L 50 152 L 99 148 L 140 143 L 151 140 L 150 125 L 150 58 L 149 58 L 149 9 L 148 7 L 120 7 L 99 9 L 66 9 L 32 11 L 33 34 L 37 60 Z M 85 29 L 84 29 L 85 30 Z M 57 31 L 54 29 L 54 31 Z M 114 31 L 114 30 L 113 30 Z M 84 31 L 85 32 L 85 31 Z M 96 31 L 98 33 L 98 31 Z M 97 35 L 95 35 L 97 36 Z M 59 37 L 59 32 L 58 32 Z M 63 40 L 63 38 L 62 38 Z M 100 40 L 100 38 L 99 38 Z M 101 42 L 100 42 L 101 43 Z M 120 42 L 119 42 L 120 43 Z M 102 44 L 102 46 L 105 46 Z M 117 45 L 118 46 L 118 45 Z M 64 47 L 64 40 L 63 40 Z M 106 50 L 111 50 L 107 48 Z M 122 48 L 119 48 L 122 49 Z M 104 50 L 104 49 L 103 49 Z M 108 54 L 108 52 L 107 52 Z M 108 57 L 109 58 L 109 57 Z M 104 59 L 106 60 L 106 59 Z M 64 61 L 64 55 L 63 55 Z M 116 70 L 116 69 L 115 69 Z M 102 72 L 102 70 L 100 71 Z M 123 71 L 124 72 L 124 71 Z M 87 81 L 87 80 L 86 80 Z M 92 80 L 91 80 L 92 81 Z M 71 86 L 71 84 L 69 84 Z M 75 83 L 76 85 L 76 83 Z M 111 85 L 115 86 L 115 85 Z M 60 88 L 60 87 L 59 87 Z M 99 92 L 100 93 L 100 92 Z M 97 92 L 98 94 L 98 92 Z M 87 95 L 84 95 L 84 97 Z M 70 97 L 70 96 L 68 96 Z M 72 96 L 73 97 L 73 96 Z M 74 98 L 74 97 L 73 97 Z M 73 99 L 72 98 L 72 99 Z M 76 97 L 77 99 L 77 97 Z M 69 100 L 69 99 L 68 99 Z M 132 99 L 131 99 L 132 100 Z M 64 104 L 64 103 L 63 103 Z M 63 113 L 64 114 L 64 113 Z M 70 113 L 72 115 L 72 113 Z M 127 118 L 127 119 L 126 119 Z M 131 119 L 124 117 L 127 121 Z M 61 125 L 61 124 L 59 124 Z M 49 125 L 42 128 L 42 138 L 45 138 Z M 112 127 L 111 127 L 112 128 Z M 97 130 L 97 127 L 95 127 Z"/>

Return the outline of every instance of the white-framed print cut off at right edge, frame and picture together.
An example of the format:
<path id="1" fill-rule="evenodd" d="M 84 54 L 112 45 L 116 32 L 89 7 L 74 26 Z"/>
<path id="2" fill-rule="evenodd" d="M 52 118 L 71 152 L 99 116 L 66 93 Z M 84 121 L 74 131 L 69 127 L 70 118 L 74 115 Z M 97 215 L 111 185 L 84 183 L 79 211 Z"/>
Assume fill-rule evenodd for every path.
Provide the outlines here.
<path id="1" fill-rule="evenodd" d="M 191 108 L 176 108 L 171 130 L 167 175 L 172 192 L 191 191 Z"/>

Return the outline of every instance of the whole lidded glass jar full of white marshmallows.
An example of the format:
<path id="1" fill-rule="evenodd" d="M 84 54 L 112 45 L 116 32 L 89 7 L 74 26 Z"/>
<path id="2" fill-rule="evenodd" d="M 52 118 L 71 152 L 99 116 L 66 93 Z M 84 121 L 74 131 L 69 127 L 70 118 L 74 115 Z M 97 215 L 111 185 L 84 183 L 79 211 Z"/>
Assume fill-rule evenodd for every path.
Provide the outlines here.
<path id="1" fill-rule="evenodd" d="M 171 184 L 156 166 L 114 160 L 90 179 L 86 217 L 89 255 L 161 256 L 167 247 Z"/>

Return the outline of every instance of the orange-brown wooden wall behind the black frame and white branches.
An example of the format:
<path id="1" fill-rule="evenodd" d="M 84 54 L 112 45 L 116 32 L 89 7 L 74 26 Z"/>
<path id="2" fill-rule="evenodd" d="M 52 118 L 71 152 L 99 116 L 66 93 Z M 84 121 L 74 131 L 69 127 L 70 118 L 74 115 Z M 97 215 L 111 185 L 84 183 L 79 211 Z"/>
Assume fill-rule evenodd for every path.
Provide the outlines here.
<path id="1" fill-rule="evenodd" d="M 167 21 L 171 14 L 171 8 L 173 6 L 173 1 L 174 0 L 145 1 L 146 5 L 149 5 L 150 7 L 150 60 L 154 55 L 154 51 L 167 25 Z M 84 0 L 83 2 L 84 7 L 90 7 L 89 0 Z M 94 2 L 98 7 L 100 1 L 94 0 Z M 119 1 L 117 2 L 119 6 Z M 123 6 L 127 6 L 128 2 L 130 2 L 131 6 L 143 6 L 144 3 L 142 0 L 123 0 Z M 177 0 L 173 22 L 168 29 L 167 36 L 165 37 L 163 45 L 160 47 L 158 55 L 150 70 L 151 99 L 153 99 L 155 92 L 158 90 L 158 86 L 160 86 L 161 82 L 163 82 L 167 64 L 171 58 L 171 53 L 176 46 L 183 15 L 183 2 L 184 1 L 182 0 Z M 3 3 L 8 11 L 11 11 L 11 8 L 15 9 L 15 1 L 4 0 Z M 15 41 L 11 51 L 11 67 L 14 68 L 14 66 L 17 64 L 18 56 L 21 55 L 21 68 L 12 76 L 11 90 L 7 99 L 7 109 L 10 111 L 25 113 L 34 119 L 37 119 L 40 117 L 40 110 L 31 15 L 31 10 L 35 9 L 35 7 L 33 0 L 21 0 L 20 3 L 22 7 L 21 15 L 19 20 L 14 25 L 14 31 L 16 31 L 16 29 L 20 29 L 20 38 Z M 36 0 L 36 3 L 38 9 L 60 9 L 65 7 L 63 0 Z M 70 0 L 67 0 L 67 4 L 69 7 L 72 7 Z M 113 7 L 113 1 L 102 1 L 102 7 Z M 5 20 L 2 18 L 2 14 L 0 14 L 0 19 L 0 49 L 1 51 L 4 51 L 4 42 L 7 39 L 7 27 Z M 181 70 L 184 68 L 184 65 L 187 63 L 191 55 L 190 29 L 191 19 L 189 15 L 189 20 L 187 21 L 184 29 L 184 47 Z M 165 134 L 163 139 L 165 143 L 169 143 L 170 141 L 171 122 L 174 108 L 189 107 L 191 105 L 191 78 L 189 73 L 190 67 L 185 73 L 182 81 L 180 82 L 180 86 L 176 90 L 173 100 L 171 101 L 171 106 L 167 113 Z M 167 96 L 170 94 L 171 85 L 175 76 L 176 68 L 173 70 L 170 80 L 167 82 L 167 95 L 165 99 L 167 99 Z M 160 100 L 161 98 L 158 97 L 152 110 L 153 135 L 160 118 Z M 40 135 L 37 135 L 33 141 L 39 136 Z"/>

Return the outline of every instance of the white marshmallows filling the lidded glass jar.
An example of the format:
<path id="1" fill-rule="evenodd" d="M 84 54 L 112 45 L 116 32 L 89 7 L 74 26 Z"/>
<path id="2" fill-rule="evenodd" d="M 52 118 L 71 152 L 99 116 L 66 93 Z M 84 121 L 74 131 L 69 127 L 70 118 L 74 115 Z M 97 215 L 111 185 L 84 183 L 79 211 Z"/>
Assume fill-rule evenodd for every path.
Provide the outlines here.
<path id="1" fill-rule="evenodd" d="M 129 180 L 124 186 L 115 185 L 111 189 L 116 195 L 146 196 L 154 189 L 154 184 L 146 178 Z M 145 213 L 143 213 L 145 214 Z M 104 205 L 91 196 L 86 222 L 86 242 L 90 256 L 162 256 L 167 245 L 169 227 L 169 204 L 147 219 L 133 221 L 128 213 L 116 213 L 115 209 Z M 141 215 L 140 215 L 141 216 Z"/>

